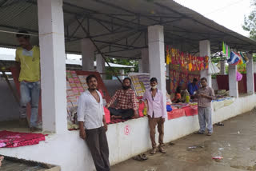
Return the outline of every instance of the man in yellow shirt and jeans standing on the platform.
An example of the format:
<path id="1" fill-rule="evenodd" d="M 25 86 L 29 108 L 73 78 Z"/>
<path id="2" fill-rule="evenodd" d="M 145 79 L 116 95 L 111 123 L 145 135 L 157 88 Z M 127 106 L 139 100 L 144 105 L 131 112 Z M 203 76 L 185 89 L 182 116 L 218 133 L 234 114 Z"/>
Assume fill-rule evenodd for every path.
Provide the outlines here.
<path id="1" fill-rule="evenodd" d="M 26 30 L 16 34 L 20 47 L 16 50 L 16 62 L 20 66 L 18 81 L 20 82 L 20 125 L 26 125 L 26 105 L 30 102 L 30 130 L 37 130 L 38 101 L 40 95 L 40 50 L 38 46 L 30 44 L 30 35 Z"/>

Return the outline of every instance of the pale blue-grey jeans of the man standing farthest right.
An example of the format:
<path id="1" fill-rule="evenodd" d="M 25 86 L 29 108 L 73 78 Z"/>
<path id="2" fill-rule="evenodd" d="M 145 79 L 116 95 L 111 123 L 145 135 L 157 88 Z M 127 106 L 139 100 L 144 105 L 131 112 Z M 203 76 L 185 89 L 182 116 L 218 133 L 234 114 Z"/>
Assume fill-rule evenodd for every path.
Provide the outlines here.
<path id="1" fill-rule="evenodd" d="M 200 125 L 199 132 L 204 133 L 207 124 L 208 133 L 213 133 L 213 124 L 211 121 L 211 107 L 198 106 L 198 120 Z"/>

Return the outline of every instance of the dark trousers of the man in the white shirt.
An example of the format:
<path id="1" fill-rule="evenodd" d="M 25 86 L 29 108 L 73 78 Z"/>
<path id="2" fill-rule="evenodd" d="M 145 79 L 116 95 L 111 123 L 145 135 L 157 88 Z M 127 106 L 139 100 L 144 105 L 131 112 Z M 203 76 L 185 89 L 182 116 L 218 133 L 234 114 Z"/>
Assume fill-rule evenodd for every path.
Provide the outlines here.
<path id="1" fill-rule="evenodd" d="M 109 146 L 104 127 L 86 129 L 86 143 L 97 171 L 110 171 Z"/>

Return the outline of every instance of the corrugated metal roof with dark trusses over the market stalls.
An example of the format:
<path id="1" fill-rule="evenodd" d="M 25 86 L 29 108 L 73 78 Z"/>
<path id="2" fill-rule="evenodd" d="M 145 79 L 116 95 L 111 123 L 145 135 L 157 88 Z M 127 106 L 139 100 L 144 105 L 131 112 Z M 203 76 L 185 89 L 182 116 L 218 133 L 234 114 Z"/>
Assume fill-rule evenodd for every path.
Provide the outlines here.
<path id="1" fill-rule="evenodd" d="M 3 3 L 5 2 L 5 3 Z M 221 42 L 231 48 L 255 51 L 256 42 L 220 26 L 173 0 L 64 0 L 66 51 L 80 54 L 80 40 L 90 38 L 107 57 L 139 58 L 147 46 L 147 26 L 161 24 L 165 42 L 185 52 L 198 52 L 198 42 L 209 39 L 212 52 Z M 0 0 L 0 30 L 29 30 L 38 34 L 36 0 Z M 232 18 L 230 18 L 232 19 Z M 83 29 L 79 26 L 82 22 Z M 88 25 L 89 23 L 89 25 Z M 103 35 L 102 35 L 103 34 Z M 0 45 L 17 46 L 13 34 L 0 32 Z M 38 44 L 38 38 L 32 38 Z"/>

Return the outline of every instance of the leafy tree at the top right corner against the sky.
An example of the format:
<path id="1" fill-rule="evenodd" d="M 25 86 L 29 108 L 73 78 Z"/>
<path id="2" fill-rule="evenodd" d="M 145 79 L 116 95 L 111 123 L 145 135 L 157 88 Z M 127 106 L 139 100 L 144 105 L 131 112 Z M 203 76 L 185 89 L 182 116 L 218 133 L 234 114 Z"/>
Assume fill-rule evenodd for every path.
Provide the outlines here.
<path id="1" fill-rule="evenodd" d="M 250 38 L 256 41 L 256 0 L 251 0 L 253 10 L 244 18 L 243 30 L 249 31 Z"/>

